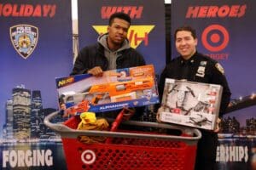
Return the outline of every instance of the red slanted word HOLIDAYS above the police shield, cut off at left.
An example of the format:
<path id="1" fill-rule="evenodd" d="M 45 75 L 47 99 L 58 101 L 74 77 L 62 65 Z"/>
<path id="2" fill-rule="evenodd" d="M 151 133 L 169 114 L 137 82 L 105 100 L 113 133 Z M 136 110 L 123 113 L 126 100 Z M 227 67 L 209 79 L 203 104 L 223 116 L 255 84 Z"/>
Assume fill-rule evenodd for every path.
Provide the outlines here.
<path id="1" fill-rule="evenodd" d="M 0 16 L 4 17 L 53 17 L 55 4 L 11 4 L 0 3 Z"/>

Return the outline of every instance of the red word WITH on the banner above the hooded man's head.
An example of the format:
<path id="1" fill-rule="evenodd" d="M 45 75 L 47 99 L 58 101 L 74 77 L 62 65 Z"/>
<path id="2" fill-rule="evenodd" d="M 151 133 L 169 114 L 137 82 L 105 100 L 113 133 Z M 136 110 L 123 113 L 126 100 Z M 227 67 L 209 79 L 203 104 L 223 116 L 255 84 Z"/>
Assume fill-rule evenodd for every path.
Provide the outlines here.
<path id="1" fill-rule="evenodd" d="M 143 14 L 143 6 L 103 6 L 102 7 L 102 19 L 109 19 L 110 15 L 117 12 L 123 12 L 129 14 L 131 19 L 140 19 Z"/>

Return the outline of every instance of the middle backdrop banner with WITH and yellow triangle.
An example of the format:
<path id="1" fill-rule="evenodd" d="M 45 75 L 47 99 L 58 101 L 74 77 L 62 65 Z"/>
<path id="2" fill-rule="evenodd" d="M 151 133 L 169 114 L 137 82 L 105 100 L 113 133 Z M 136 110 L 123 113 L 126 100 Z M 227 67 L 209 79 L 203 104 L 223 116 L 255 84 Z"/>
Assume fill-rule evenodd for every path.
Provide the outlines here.
<path id="1" fill-rule="evenodd" d="M 95 43 L 99 35 L 107 32 L 111 14 L 124 12 L 131 16 L 131 27 L 127 36 L 131 47 L 143 54 L 147 64 L 154 64 L 156 74 L 160 74 L 166 64 L 163 1 L 79 0 L 78 7 L 79 48 Z"/>

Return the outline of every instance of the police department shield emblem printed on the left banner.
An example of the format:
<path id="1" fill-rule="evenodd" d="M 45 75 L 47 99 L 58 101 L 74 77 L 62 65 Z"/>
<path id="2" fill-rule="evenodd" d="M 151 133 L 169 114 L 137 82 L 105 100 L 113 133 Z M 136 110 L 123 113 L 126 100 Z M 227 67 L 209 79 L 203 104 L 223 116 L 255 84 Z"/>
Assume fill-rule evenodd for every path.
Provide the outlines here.
<path id="1" fill-rule="evenodd" d="M 9 28 L 11 42 L 18 54 L 27 59 L 38 44 L 38 27 L 16 25 Z"/>

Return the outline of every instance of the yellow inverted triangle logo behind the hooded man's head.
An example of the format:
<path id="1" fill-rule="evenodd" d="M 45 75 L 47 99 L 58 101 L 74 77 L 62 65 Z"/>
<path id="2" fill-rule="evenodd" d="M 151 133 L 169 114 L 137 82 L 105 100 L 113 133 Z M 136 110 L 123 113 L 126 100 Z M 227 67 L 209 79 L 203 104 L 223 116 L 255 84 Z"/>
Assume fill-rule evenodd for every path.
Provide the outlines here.
<path id="1" fill-rule="evenodd" d="M 99 35 L 107 31 L 108 26 L 92 26 Z M 137 48 L 142 42 L 148 46 L 148 34 L 154 26 L 130 26 L 127 33 L 131 48 Z"/>

